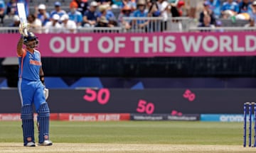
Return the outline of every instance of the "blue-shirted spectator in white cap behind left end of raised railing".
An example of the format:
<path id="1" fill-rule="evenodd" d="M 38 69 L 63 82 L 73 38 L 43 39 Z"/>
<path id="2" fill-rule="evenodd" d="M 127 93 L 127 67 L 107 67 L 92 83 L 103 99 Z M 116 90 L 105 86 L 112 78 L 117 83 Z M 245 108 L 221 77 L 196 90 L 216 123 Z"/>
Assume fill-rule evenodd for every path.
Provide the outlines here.
<path id="1" fill-rule="evenodd" d="M 139 0 L 137 2 L 137 10 L 134 11 L 133 17 L 147 17 L 147 11 L 146 11 L 146 1 L 144 0 Z M 146 30 L 146 26 L 149 25 L 149 21 L 146 20 L 137 20 L 137 21 L 132 21 L 132 26 L 135 26 L 135 28 L 140 28 L 142 30 Z"/>

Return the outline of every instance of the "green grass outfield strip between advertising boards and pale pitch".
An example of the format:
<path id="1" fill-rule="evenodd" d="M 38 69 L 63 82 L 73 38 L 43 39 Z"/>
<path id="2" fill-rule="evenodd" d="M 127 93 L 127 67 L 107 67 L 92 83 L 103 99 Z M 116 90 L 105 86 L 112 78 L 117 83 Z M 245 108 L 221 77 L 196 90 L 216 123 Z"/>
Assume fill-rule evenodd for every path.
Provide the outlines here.
<path id="1" fill-rule="evenodd" d="M 242 128 L 243 123 L 198 121 L 51 121 L 50 140 L 55 144 L 198 145 L 199 147 L 225 145 L 225 147 L 244 149 Z M 36 134 L 37 132 L 35 136 Z M 8 146 L 11 143 L 15 145 L 20 143 L 22 146 L 22 139 L 21 122 L 0 122 L 0 142 L 9 142 L 6 143 Z M 0 147 L 0 152 L 5 147 Z M 256 152 L 256 148 L 252 149 Z M 251 150 L 246 152 L 249 151 Z"/>

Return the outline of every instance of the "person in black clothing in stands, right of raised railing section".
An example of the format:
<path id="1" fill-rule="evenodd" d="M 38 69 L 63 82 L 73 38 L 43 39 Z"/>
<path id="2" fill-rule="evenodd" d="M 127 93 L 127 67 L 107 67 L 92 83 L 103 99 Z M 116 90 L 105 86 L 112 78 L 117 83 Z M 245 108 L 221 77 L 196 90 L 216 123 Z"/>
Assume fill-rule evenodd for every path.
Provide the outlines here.
<path id="1" fill-rule="evenodd" d="M 210 16 L 210 24 L 215 25 L 215 15 L 214 12 L 210 9 L 210 2 L 205 1 L 203 3 L 203 11 L 199 14 L 199 23 L 203 23 L 204 16 Z"/>

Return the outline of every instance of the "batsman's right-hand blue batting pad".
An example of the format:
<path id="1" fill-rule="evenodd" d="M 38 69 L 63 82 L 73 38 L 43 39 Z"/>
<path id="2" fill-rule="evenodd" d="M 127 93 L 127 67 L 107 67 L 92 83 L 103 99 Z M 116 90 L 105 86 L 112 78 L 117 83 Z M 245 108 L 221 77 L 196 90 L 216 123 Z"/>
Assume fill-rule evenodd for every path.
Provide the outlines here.
<path id="1" fill-rule="evenodd" d="M 42 103 L 38 111 L 39 143 L 49 139 L 50 110 L 47 103 Z"/>

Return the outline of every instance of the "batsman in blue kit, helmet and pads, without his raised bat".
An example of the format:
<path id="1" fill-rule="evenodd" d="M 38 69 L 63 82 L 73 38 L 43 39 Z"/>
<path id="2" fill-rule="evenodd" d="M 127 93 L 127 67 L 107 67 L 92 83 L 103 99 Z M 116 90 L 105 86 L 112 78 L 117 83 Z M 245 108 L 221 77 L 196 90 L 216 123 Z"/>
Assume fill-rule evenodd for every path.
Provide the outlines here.
<path id="1" fill-rule="evenodd" d="M 41 53 L 36 50 L 38 38 L 33 33 L 27 32 L 28 23 L 21 23 L 19 31 L 21 38 L 17 44 L 18 55 L 18 94 L 21 98 L 21 120 L 23 129 L 23 145 L 35 147 L 33 105 L 36 108 L 38 125 L 38 145 L 49 146 L 50 110 L 46 98 L 48 90 L 44 84 Z M 23 48 L 23 45 L 26 47 Z"/>

